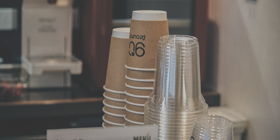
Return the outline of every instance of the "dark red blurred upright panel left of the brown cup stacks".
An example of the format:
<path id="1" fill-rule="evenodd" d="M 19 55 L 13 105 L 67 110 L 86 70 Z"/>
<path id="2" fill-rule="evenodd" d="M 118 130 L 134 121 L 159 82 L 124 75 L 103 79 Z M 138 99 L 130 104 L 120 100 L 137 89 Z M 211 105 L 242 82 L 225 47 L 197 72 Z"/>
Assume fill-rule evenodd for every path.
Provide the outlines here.
<path id="1" fill-rule="evenodd" d="M 80 6 L 82 46 L 74 46 L 74 50 L 82 50 L 77 54 L 83 61 L 78 79 L 90 91 L 103 90 L 113 28 L 113 1 L 85 0 Z"/>

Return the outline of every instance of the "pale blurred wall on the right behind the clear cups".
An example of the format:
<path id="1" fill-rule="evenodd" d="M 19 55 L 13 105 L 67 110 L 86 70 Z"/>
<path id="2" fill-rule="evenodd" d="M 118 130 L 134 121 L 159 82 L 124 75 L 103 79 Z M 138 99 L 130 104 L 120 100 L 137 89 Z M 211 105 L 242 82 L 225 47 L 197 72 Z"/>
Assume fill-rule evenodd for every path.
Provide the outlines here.
<path id="1" fill-rule="evenodd" d="M 209 0 L 208 11 L 221 104 L 249 119 L 246 139 L 280 139 L 280 1 Z"/>

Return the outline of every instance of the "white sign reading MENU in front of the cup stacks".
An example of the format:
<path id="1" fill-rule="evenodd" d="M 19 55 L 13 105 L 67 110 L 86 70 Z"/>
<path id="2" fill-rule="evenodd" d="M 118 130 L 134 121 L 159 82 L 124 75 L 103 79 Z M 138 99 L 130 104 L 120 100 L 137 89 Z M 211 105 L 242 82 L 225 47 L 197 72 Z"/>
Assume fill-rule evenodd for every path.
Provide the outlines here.
<path id="1" fill-rule="evenodd" d="M 157 140 L 158 126 L 90 127 L 47 130 L 47 140 Z"/>

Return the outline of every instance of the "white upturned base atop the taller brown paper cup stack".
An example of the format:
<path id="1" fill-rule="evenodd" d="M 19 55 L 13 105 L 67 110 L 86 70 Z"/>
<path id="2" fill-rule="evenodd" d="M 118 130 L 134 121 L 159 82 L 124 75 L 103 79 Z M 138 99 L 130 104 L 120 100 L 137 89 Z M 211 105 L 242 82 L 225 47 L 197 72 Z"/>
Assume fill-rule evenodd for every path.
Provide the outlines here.
<path id="1" fill-rule="evenodd" d="M 137 10 L 132 11 L 132 19 L 134 20 L 147 20 L 147 21 L 158 21 L 166 20 L 166 11 L 160 10 Z"/>

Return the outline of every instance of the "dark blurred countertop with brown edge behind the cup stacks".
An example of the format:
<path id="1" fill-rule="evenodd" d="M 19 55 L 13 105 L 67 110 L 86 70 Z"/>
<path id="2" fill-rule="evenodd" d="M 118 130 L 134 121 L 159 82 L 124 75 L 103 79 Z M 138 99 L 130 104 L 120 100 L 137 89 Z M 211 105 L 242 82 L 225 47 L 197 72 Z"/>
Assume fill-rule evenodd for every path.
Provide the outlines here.
<path id="1" fill-rule="evenodd" d="M 103 92 L 78 85 L 26 90 L 12 101 L 0 102 L 0 139 L 45 139 L 47 129 L 101 127 Z M 202 95 L 209 106 L 220 105 L 217 92 Z"/>

